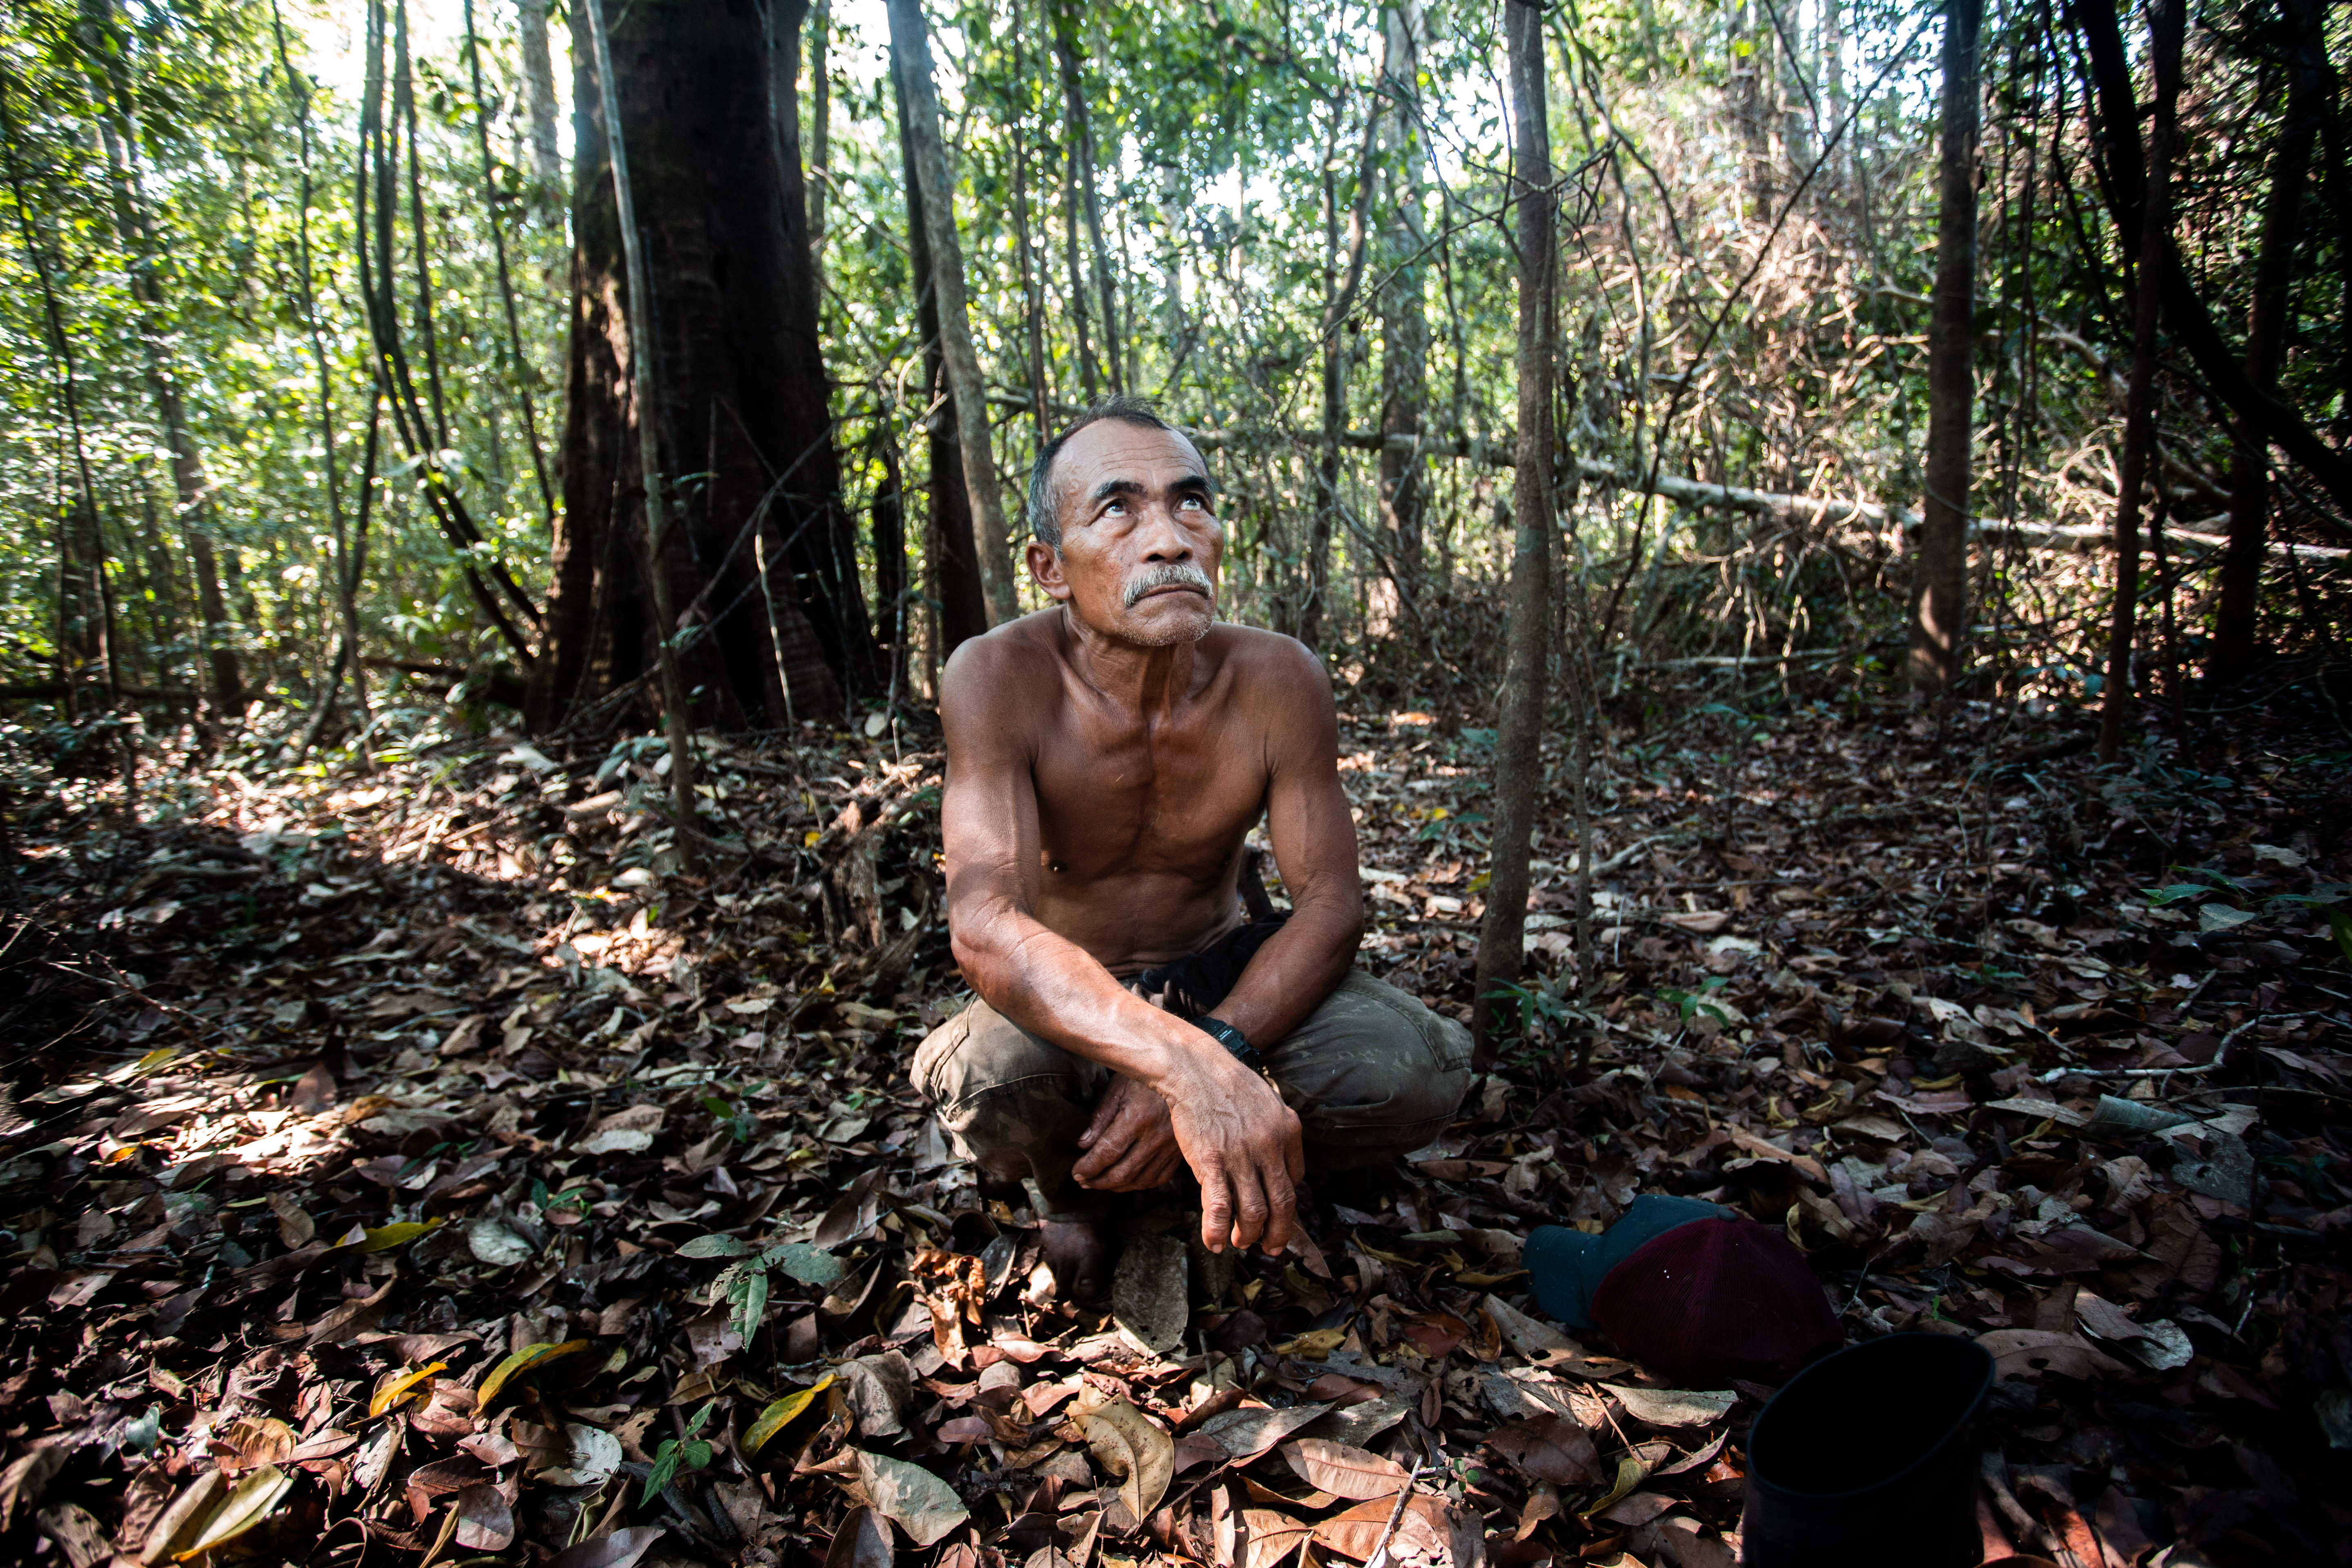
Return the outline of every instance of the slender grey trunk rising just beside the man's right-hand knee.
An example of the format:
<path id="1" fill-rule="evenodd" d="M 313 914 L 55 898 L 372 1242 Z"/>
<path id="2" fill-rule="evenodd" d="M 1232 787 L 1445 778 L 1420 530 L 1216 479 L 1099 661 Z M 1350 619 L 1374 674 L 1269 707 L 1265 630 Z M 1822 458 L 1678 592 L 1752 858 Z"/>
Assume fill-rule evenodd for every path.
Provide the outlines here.
<path id="1" fill-rule="evenodd" d="M 1543 686 L 1552 609 L 1552 136 L 1545 108 L 1543 9 L 1503 0 L 1510 40 L 1512 195 L 1519 249 L 1519 461 L 1512 470 L 1508 663 L 1494 743 L 1494 846 L 1477 940 L 1470 1032 L 1491 1046 L 1526 961 L 1529 832 L 1543 795 Z M 1498 994 L 1501 992 L 1501 994 Z"/>

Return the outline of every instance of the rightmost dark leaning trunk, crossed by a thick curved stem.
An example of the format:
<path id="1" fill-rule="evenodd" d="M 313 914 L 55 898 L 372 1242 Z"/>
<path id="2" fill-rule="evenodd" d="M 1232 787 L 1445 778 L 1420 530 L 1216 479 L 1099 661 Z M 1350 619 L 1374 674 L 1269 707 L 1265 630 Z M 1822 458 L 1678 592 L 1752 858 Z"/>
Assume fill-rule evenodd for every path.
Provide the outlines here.
<path id="1" fill-rule="evenodd" d="M 2303 237 L 2305 179 L 2319 134 L 2324 54 L 2319 7 L 2284 0 L 2296 33 L 2286 68 L 2286 113 L 2270 160 L 2270 195 L 2263 202 L 2263 237 L 2253 256 L 2253 306 L 2246 313 L 2246 381 L 2277 395 L 2279 362 L 2286 357 L 2286 284 Z M 2263 595 L 2263 545 L 2270 529 L 2270 442 L 2244 423 L 2230 451 L 2230 548 L 2220 562 L 2220 611 L 2213 618 L 2216 686 L 2234 686 L 2253 668 L 2256 607 Z"/>

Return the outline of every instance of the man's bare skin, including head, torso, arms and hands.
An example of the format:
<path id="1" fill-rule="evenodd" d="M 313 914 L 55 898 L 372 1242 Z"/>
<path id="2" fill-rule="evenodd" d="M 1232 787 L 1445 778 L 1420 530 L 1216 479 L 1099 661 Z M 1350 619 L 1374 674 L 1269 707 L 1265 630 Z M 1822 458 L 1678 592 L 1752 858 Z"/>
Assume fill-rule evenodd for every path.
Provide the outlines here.
<path id="1" fill-rule="evenodd" d="M 1265 813 L 1294 914 L 1216 1009 L 1265 1046 L 1338 985 L 1364 926 L 1331 682 L 1289 637 L 1216 623 L 1225 534 L 1188 440 L 1082 428 L 1051 473 L 1056 599 L 955 651 L 941 679 L 948 926 L 971 987 L 1115 1074 L 1049 1180 L 1202 1185 L 1202 1241 L 1279 1253 L 1305 1173 L 1298 1117 L 1216 1039 L 1120 985 L 1240 924 L 1242 837 Z M 1075 1262 L 1073 1262 L 1075 1267 Z"/>

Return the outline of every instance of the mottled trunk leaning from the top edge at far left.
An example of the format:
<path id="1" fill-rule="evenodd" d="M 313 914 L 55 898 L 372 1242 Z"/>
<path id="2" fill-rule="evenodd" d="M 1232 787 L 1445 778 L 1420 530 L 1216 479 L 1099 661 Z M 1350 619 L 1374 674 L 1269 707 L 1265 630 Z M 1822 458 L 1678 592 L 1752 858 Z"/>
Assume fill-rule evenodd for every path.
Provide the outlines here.
<path id="1" fill-rule="evenodd" d="M 165 355 L 162 289 L 155 284 L 155 235 L 146 221 L 139 193 L 134 110 L 129 68 L 120 52 L 113 0 L 85 0 L 82 40 L 92 52 L 92 92 L 99 99 L 99 139 L 113 172 L 113 212 L 122 249 L 129 252 L 132 299 L 139 301 L 139 348 L 146 357 L 148 386 L 162 414 L 165 444 L 172 449 L 172 487 L 179 496 L 179 527 L 188 543 L 188 567 L 195 576 L 195 607 L 205 621 L 205 663 L 212 670 L 212 701 L 226 724 L 245 715 L 245 675 L 238 665 L 235 623 L 221 595 L 221 567 L 212 550 L 212 480 L 205 456 L 188 430 L 188 411 L 179 381 Z M 103 54 L 103 66 L 99 56 Z"/>

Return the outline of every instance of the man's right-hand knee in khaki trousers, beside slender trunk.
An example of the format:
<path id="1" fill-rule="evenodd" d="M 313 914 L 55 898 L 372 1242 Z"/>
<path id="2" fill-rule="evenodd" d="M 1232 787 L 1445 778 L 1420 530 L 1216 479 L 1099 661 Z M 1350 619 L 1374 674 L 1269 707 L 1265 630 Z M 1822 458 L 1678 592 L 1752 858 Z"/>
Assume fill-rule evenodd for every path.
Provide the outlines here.
<path id="1" fill-rule="evenodd" d="M 1418 1150 L 1470 1091 L 1470 1030 L 1362 971 L 1350 971 L 1272 1058 L 1324 1166 Z"/>

